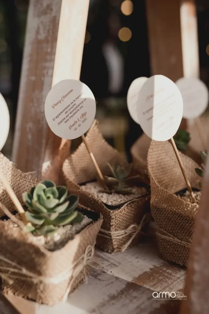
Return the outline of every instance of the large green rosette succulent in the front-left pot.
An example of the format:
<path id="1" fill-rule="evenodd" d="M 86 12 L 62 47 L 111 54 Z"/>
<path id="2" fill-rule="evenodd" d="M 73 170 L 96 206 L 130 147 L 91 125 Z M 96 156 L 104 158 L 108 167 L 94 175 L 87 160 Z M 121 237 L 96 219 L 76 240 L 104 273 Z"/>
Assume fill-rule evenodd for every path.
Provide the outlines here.
<path id="1" fill-rule="evenodd" d="M 64 186 L 56 187 L 55 183 L 45 180 L 23 194 L 23 201 L 28 207 L 26 219 L 32 224 L 29 231 L 38 231 L 40 235 L 55 232 L 59 226 L 80 223 L 84 216 L 75 211 L 78 196 L 69 195 Z"/>

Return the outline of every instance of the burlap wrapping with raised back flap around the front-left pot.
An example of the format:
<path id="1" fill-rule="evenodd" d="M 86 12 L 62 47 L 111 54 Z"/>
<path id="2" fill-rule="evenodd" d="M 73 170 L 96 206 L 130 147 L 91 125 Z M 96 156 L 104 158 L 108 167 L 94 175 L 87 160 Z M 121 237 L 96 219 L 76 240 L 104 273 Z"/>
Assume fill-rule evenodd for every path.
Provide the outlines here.
<path id="1" fill-rule="evenodd" d="M 22 193 L 29 191 L 36 181 L 34 184 L 34 180 L 16 169 L 2 154 L 0 172 L 7 177 L 19 201 L 23 203 Z M 5 215 L 4 205 L 9 212 L 15 209 L 0 184 L 0 217 Z M 4 217 L 0 219 L 0 277 L 3 293 L 52 306 L 65 301 L 69 292 L 85 280 L 102 218 L 82 205 L 78 206 L 78 210 L 93 222 L 56 251 L 49 251 L 35 242 L 31 233 L 25 233 L 23 222 L 16 216 L 10 215 L 16 227 L 11 227 L 11 220 L 6 221 Z"/>

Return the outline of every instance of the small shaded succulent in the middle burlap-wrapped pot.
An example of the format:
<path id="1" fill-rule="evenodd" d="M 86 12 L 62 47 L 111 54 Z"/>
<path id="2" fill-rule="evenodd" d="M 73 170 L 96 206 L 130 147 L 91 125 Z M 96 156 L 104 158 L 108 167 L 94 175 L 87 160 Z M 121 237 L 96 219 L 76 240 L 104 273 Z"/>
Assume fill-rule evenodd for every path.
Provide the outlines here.
<path id="1" fill-rule="evenodd" d="M 114 166 L 111 166 L 109 163 L 107 163 L 107 165 L 112 173 L 112 177 L 104 176 L 105 183 L 109 190 L 101 190 L 100 192 L 123 195 L 133 194 L 127 187 L 130 187 L 134 182 L 138 181 L 140 176 L 128 177 L 132 170 L 132 164 L 122 166 L 120 163 L 116 162 Z"/>

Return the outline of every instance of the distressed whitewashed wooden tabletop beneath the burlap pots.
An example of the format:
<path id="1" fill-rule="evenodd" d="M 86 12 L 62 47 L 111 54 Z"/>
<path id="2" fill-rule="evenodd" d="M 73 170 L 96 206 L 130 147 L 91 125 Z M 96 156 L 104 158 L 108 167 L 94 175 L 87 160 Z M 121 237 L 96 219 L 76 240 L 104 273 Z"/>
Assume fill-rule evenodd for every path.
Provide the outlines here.
<path id="1" fill-rule="evenodd" d="M 184 278 L 185 269 L 165 262 L 150 237 L 123 253 L 96 249 L 87 283 L 67 303 L 49 307 L 1 295 L 0 314 L 177 314 L 179 300 L 156 300 L 152 293 L 182 293 Z"/>

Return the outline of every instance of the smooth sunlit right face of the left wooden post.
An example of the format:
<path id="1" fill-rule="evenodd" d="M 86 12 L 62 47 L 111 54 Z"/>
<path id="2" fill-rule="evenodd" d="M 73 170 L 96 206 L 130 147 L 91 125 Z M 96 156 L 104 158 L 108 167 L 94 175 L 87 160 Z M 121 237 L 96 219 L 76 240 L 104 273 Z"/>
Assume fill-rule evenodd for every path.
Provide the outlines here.
<path id="1" fill-rule="evenodd" d="M 62 0 L 52 85 L 80 79 L 88 8 L 89 0 Z M 55 158 L 60 143 L 48 127 L 42 171 Z"/>

